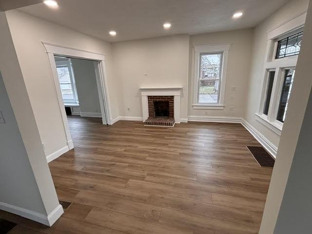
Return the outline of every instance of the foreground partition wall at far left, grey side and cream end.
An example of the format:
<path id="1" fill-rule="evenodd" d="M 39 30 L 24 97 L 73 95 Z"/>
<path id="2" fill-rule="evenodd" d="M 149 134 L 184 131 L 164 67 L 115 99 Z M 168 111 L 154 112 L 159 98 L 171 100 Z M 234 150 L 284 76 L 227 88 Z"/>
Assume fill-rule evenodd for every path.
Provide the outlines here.
<path id="1" fill-rule="evenodd" d="M 63 210 L 4 12 L 0 32 L 0 209 L 51 225 Z"/>

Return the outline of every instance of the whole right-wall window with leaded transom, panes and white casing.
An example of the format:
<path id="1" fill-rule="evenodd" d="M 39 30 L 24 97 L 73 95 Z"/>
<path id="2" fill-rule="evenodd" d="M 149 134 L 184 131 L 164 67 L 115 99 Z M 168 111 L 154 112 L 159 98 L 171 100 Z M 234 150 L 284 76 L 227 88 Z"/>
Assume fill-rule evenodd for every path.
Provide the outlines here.
<path id="1" fill-rule="evenodd" d="M 284 32 L 268 40 L 262 98 L 256 119 L 278 135 L 281 134 L 286 116 L 302 35 L 301 26 L 297 30 Z M 288 41 L 293 40 L 291 47 L 295 44 L 294 40 L 298 39 L 300 43 L 287 50 Z M 283 41 L 286 43 L 281 45 Z"/>

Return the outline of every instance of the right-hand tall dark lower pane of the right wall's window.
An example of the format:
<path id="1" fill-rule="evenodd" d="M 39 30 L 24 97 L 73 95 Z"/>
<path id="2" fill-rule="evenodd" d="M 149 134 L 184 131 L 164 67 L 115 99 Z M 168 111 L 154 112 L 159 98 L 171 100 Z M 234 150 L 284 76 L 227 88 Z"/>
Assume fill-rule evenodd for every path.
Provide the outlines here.
<path id="1" fill-rule="evenodd" d="M 294 78 L 294 73 L 295 73 L 294 69 L 285 70 L 283 88 L 282 88 L 282 93 L 280 96 L 278 112 L 277 112 L 277 117 L 276 117 L 276 119 L 282 123 L 284 122 L 285 117 L 286 117 L 288 101 L 289 101 L 289 97 L 292 91 L 292 82 Z"/>

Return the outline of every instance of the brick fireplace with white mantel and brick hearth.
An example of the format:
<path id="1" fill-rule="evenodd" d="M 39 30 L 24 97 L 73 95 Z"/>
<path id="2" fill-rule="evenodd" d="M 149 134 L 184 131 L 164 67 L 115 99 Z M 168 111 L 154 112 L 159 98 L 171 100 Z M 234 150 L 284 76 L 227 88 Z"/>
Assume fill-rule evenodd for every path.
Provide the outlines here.
<path id="1" fill-rule="evenodd" d="M 174 126 L 180 123 L 182 87 L 139 88 L 145 125 Z"/>

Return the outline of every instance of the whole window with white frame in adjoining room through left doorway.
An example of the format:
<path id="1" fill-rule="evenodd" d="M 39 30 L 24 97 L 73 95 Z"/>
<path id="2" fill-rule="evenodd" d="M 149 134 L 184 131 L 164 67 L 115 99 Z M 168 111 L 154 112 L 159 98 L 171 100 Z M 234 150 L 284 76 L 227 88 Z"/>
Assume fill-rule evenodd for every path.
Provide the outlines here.
<path id="1" fill-rule="evenodd" d="M 65 103 L 78 103 L 77 89 L 70 59 L 56 61 L 59 86 Z"/>

